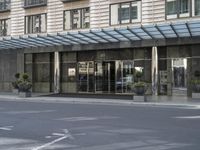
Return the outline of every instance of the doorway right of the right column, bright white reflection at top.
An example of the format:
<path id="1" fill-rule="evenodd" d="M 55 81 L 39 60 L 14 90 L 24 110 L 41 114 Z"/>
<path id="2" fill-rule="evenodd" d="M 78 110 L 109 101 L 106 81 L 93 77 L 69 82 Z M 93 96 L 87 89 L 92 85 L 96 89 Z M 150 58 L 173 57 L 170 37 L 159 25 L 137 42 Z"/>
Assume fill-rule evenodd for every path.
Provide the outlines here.
<path id="1" fill-rule="evenodd" d="M 187 59 L 172 59 L 172 94 L 187 96 Z"/>

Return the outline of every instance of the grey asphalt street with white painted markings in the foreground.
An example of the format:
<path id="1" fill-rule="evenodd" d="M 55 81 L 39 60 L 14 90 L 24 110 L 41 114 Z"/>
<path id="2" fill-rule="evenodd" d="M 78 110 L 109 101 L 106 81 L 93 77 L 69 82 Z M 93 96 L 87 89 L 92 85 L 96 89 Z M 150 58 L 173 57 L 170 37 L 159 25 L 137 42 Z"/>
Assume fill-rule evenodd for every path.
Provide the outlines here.
<path id="1" fill-rule="evenodd" d="M 199 150 L 200 109 L 0 100 L 0 150 Z"/>

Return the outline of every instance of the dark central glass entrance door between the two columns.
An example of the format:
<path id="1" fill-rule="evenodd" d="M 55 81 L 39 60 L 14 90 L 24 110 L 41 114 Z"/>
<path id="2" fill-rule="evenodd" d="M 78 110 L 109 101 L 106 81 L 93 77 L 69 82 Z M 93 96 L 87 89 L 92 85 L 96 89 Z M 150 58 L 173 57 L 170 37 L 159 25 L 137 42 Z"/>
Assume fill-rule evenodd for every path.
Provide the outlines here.
<path id="1" fill-rule="evenodd" d="M 115 62 L 96 62 L 95 63 L 96 92 L 114 93 L 115 92 Z"/>

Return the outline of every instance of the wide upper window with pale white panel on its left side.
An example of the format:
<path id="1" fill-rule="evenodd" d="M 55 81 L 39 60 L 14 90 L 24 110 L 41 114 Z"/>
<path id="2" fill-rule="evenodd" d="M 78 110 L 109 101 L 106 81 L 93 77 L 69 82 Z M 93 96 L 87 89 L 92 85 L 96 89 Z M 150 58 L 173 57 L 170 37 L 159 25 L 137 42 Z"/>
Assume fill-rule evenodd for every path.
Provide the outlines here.
<path id="1" fill-rule="evenodd" d="M 141 21 L 141 1 L 110 5 L 110 25 Z"/>

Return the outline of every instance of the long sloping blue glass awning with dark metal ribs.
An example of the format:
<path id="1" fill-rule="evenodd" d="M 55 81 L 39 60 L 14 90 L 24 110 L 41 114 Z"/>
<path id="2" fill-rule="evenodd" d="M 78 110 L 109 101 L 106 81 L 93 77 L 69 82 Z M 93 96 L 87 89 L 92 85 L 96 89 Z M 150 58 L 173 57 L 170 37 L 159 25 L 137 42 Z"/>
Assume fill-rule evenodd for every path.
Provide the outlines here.
<path id="1" fill-rule="evenodd" d="M 115 43 L 200 36 L 200 21 L 161 23 L 0 38 L 0 49 Z"/>

